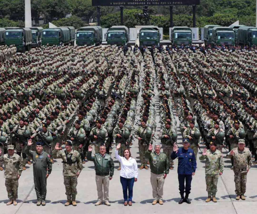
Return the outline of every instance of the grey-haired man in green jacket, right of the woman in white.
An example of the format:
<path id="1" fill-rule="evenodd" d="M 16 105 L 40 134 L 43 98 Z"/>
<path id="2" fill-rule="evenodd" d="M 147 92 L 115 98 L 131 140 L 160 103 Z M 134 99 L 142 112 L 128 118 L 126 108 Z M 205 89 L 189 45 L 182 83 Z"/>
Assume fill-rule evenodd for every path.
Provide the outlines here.
<path id="1" fill-rule="evenodd" d="M 148 150 L 145 153 L 145 157 L 149 159 L 151 169 L 151 185 L 153 188 L 153 202 L 155 205 L 159 200 L 159 204 L 163 204 L 163 185 L 164 179 L 169 173 L 169 159 L 166 154 L 161 152 L 160 144 L 154 145 L 154 152 L 152 152 L 153 146 L 149 144 Z"/>

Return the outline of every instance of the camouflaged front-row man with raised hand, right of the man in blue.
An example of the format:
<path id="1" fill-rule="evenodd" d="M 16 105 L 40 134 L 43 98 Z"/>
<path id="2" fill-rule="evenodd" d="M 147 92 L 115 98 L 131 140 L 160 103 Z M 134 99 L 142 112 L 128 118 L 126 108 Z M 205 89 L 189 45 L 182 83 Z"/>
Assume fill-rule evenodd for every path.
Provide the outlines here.
<path id="1" fill-rule="evenodd" d="M 208 192 L 208 198 L 205 202 L 212 200 L 217 202 L 216 192 L 219 175 L 222 175 L 224 170 L 224 161 L 222 153 L 216 149 L 215 142 L 210 142 L 210 149 L 204 148 L 203 154 L 199 157 L 201 161 L 206 159 L 205 162 L 205 181 L 206 191 Z"/>

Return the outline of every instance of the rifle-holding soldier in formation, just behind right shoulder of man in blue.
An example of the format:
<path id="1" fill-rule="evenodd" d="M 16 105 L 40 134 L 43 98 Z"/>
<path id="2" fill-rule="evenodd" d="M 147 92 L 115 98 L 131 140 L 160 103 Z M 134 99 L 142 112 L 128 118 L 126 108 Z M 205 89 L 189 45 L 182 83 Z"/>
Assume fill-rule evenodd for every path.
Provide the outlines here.
<path id="1" fill-rule="evenodd" d="M 194 150 L 194 154 L 195 154 L 195 159 L 197 157 L 198 154 L 198 147 L 200 144 L 200 139 L 201 137 L 199 137 L 198 139 L 196 139 L 194 137 L 194 134 L 196 131 L 199 132 L 199 129 L 194 127 L 195 126 L 195 121 L 194 120 L 190 120 L 189 121 L 189 127 L 187 127 L 185 129 L 185 131 L 183 132 L 183 138 L 189 138 L 189 143 L 190 143 L 190 148 L 192 148 L 192 150 Z"/>

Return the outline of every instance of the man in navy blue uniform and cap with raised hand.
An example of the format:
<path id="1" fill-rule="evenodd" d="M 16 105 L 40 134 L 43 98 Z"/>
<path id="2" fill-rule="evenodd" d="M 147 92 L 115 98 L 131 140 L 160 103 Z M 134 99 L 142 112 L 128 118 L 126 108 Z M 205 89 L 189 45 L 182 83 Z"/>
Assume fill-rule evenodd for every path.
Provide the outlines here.
<path id="1" fill-rule="evenodd" d="M 178 182 L 179 191 L 181 195 L 181 199 L 178 203 L 181 204 L 183 202 L 186 202 L 190 204 L 191 202 L 188 200 L 188 196 L 191 190 L 192 175 L 195 175 L 196 160 L 194 150 L 189 148 L 189 139 L 183 139 L 183 148 L 178 148 L 175 144 L 173 147 L 173 152 L 171 153 L 170 157 L 172 160 L 178 157 Z M 184 192 L 186 192 L 185 197 Z"/>

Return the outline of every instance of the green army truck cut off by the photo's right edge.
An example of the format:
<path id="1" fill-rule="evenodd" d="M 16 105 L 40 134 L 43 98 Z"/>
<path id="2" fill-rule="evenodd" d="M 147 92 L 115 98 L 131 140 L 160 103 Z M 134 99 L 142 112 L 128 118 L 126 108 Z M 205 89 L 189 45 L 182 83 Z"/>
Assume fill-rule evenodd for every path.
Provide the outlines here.
<path id="1" fill-rule="evenodd" d="M 241 26 L 237 30 L 239 45 L 257 45 L 257 27 Z"/>

